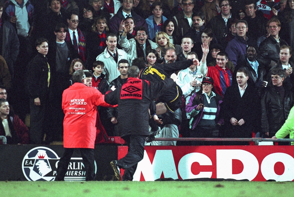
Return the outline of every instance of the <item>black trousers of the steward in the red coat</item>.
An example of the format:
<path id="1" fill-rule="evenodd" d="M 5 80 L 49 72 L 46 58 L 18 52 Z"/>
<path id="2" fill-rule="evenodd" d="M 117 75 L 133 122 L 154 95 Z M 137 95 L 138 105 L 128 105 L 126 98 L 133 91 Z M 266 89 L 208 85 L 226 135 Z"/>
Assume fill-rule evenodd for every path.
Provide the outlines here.
<path id="1" fill-rule="evenodd" d="M 75 149 L 80 149 L 83 164 L 86 171 L 86 181 L 95 181 L 95 163 L 94 163 L 94 149 L 92 148 L 64 148 L 62 158 L 60 158 L 57 167 L 57 176 L 55 181 L 64 181 L 65 174 L 67 172 L 68 164 L 70 163 L 71 155 L 73 155 Z"/>

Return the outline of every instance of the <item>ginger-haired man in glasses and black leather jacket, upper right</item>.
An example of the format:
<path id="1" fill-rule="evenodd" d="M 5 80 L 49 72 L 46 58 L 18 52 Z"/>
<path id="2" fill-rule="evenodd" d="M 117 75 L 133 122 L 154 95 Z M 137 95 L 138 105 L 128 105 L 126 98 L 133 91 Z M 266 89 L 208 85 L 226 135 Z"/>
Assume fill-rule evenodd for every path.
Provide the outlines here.
<path id="1" fill-rule="evenodd" d="M 256 59 L 269 71 L 280 60 L 280 46 L 287 45 L 287 43 L 279 37 L 281 23 L 278 19 L 269 20 L 267 27 L 270 36 L 260 43 Z"/>

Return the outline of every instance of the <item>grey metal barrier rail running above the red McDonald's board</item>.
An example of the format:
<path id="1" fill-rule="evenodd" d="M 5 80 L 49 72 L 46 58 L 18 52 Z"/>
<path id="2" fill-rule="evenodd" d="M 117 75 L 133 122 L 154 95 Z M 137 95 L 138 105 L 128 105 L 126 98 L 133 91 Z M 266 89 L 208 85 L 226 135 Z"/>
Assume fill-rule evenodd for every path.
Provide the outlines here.
<path id="1" fill-rule="evenodd" d="M 179 137 L 179 138 L 163 138 L 158 137 L 153 141 L 248 141 L 254 142 L 258 145 L 259 142 L 294 142 L 294 139 L 277 139 L 277 138 L 193 138 L 193 137 Z"/>

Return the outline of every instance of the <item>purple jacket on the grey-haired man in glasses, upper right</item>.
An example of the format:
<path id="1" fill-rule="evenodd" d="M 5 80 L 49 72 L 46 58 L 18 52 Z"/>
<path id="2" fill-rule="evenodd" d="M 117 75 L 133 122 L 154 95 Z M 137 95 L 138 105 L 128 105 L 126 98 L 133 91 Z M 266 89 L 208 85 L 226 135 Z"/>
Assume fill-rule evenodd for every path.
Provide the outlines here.
<path id="1" fill-rule="evenodd" d="M 235 67 L 245 60 L 247 42 L 248 37 L 244 40 L 244 38 L 236 35 L 235 38 L 228 43 L 226 52 L 228 53 L 229 60 L 234 63 Z"/>

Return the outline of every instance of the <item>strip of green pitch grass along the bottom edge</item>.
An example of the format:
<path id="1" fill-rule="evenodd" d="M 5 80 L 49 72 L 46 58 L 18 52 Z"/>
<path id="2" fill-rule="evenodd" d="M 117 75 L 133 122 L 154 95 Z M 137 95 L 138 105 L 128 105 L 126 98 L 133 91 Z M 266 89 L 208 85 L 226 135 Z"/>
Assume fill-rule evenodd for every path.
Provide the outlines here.
<path id="1" fill-rule="evenodd" d="M 0 181 L 3 197 L 294 197 L 294 182 L 249 181 Z"/>

